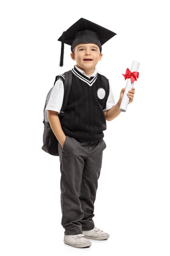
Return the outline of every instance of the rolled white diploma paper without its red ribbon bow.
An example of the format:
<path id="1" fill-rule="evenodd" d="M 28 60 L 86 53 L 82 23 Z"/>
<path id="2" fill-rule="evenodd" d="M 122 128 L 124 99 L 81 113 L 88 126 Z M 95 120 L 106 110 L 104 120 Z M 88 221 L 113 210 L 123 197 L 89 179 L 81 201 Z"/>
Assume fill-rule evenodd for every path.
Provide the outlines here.
<path id="1" fill-rule="evenodd" d="M 133 71 L 138 72 L 139 65 L 140 65 L 140 63 L 138 61 L 133 61 L 130 72 L 133 72 Z M 134 87 L 134 82 L 135 81 L 133 81 L 133 83 L 131 83 L 131 79 L 130 78 L 127 79 L 126 89 L 125 89 L 125 92 L 123 93 L 119 111 L 126 112 L 127 105 L 129 103 L 129 97 L 127 96 L 127 93 L 129 90 L 132 90 L 132 87 Z"/>

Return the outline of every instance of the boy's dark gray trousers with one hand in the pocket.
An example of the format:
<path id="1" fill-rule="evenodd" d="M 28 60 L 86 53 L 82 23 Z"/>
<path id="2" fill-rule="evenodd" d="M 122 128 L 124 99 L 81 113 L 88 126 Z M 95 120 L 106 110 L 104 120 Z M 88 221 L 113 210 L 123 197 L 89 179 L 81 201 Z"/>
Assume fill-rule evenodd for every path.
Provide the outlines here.
<path id="1" fill-rule="evenodd" d="M 94 228 L 94 201 L 102 167 L 105 141 L 81 141 L 66 136 L 58 143 L 62 227 L 65 235 L 81 234 Z"/>

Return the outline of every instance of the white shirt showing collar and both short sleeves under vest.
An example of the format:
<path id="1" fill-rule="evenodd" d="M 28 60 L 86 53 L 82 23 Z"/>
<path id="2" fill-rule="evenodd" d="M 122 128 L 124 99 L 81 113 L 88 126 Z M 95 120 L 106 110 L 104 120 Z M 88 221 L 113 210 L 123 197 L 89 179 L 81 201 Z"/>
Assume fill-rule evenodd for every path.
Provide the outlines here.
<path id="1" fill-rule="evenodd" d="M 77 65 L 74 65 L 74 67 L 76 67 L 77 70 L 80 73 L 82 73 L 84 76 L 86 76 L 85 72 L 83 70 L 81 70 L 79 67 L 77 67 Z M 93 76 L 96 76 L 97 72 L 98 72 L 98 69 L 97 69 L 97 67 L 95 67 L 94 73 L 87 77 L 91 78 Z M 109 92 L 108 100 L 106 102 L 106 107 L 103 111 L 108 110 L 115 105 L 112 87 L 111 87 L 111 85 L 109 87 L 110 87 L 110 92 Z M 53 90 L 51 91 L 51 95 L 50 95 L 50 98 L 49 98 L 49 101 L 48 101 L 48 104 L 47 104 L 45 110 L 46 111 L 53 110 L 53 111 L 57 111 L 59 113 L 61 110 L 61 107 L 62 107 L 63 97 L 64 97 L 64 84 L 62 82 L 62 79 L 59 78 L 56 81 L 56 83 L 53 87 Z"/>

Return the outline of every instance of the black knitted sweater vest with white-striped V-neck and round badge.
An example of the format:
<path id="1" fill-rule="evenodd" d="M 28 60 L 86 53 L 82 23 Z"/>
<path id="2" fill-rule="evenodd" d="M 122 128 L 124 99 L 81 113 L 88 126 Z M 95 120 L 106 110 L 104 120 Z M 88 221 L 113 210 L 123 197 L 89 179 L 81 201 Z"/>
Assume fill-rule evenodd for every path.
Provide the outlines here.
<path id="1" fill-rule="evenodd" d="M 60 77 L 64 82 L 63 75 Z M 107 128 L 103 110 L 108 96 L 109 84 L 105 85 L 99 73 L 89 79 L 74 67 L 68 103 L 60 120 L 65 135 L 84 141 L 101 140 Z"/>

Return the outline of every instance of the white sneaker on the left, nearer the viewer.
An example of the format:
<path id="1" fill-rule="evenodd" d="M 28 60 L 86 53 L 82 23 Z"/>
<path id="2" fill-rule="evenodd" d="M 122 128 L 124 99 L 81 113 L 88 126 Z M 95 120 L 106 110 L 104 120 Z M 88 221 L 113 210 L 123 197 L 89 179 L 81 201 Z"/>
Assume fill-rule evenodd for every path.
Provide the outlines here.
<path id="1" fill-rule="evenodd" d="M 64 235 L 64 243 L 73 247 L 82 248 L 91 246 L 91 241 L 85 238 L 85 235 Z"/>

